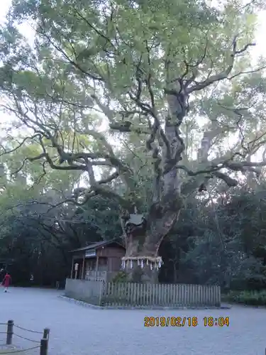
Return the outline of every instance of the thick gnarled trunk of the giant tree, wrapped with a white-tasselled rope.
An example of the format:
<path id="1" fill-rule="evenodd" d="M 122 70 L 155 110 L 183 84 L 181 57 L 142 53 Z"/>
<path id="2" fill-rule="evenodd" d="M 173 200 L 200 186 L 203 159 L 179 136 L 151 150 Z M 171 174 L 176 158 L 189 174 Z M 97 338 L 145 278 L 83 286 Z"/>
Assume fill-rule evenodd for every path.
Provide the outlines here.
<path id="1" fill-rule="evenodd" d="M 160 244 L 177 222 L 183 205 L 177 163 L 182 160 L 184 151 L 179 125 L 187 113 L 187 97 L 182 92 L 178 95 L 179 97 L 170 94 L 167 97 L 169 112 L 165 119 L 164 133 L 161 133 L 165 142 L 162 146 L 162 159 L 158 155 L 159 149 L 155 145 L 154 136 L 148 145 L 153 148 L 155 170 L 153 204 L 146 217 L 147 223 L 141 232 L 131 231 L 126 236 L 123 266 L 128 272 L 128 279 L 133 282 L 157 282 L 158 269 L 162 263 L 158 256 Z"/>

